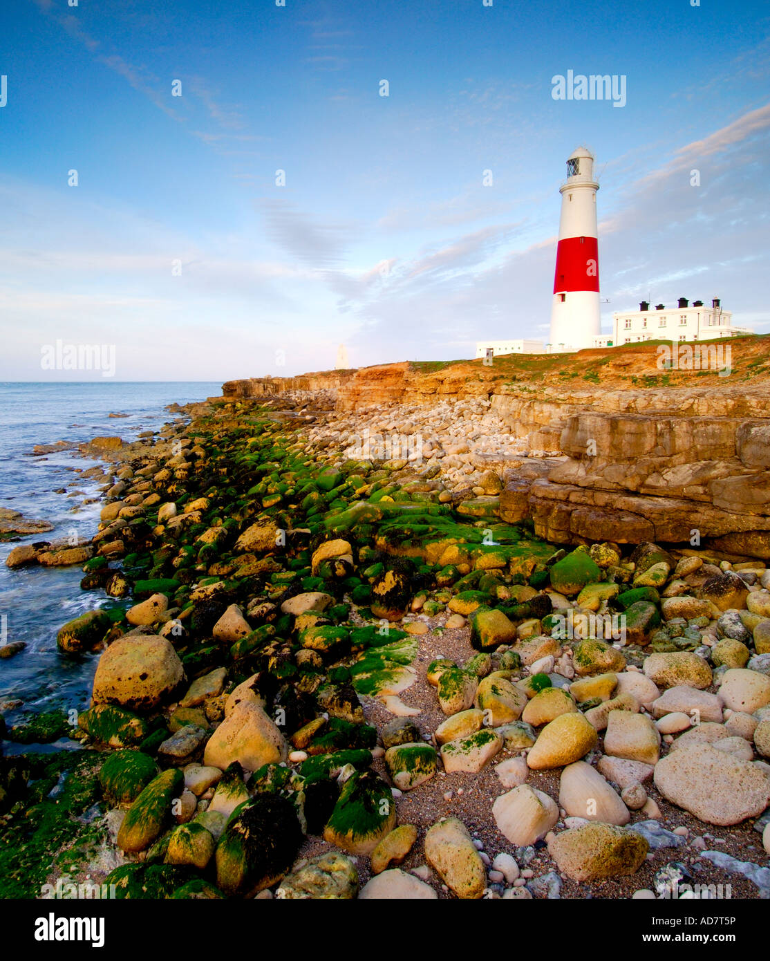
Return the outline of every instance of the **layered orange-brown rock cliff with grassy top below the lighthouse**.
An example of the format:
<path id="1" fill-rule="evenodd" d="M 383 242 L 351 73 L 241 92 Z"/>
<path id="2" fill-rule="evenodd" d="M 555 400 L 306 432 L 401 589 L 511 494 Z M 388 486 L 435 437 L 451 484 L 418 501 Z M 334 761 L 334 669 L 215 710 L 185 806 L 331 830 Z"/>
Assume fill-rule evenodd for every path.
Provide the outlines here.
<path id="1" fill-rule="evenodd" d="M 223 393 L 307 394 L 338 411 L 484 398 L 529 454 L 505 471 L 503 519 L 531 517 L 556 543 L 704 543 L 768 559 L 768 347 L 735 339 L 719 369 L 661 370 L 659 345 L 638 344 L 252 379 Z"/>

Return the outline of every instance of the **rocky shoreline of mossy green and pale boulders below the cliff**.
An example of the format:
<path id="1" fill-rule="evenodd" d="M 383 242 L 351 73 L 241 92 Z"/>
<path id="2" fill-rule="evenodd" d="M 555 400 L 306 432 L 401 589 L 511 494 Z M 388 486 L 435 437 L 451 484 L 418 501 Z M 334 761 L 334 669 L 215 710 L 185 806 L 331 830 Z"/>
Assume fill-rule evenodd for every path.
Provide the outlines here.
<path id="1" fill-rule="evenodd" d="M 89 709 L 0 725 L 85 749 L 0 758 L 4 897 L 770 897 L 763 560 L 509 523 L 567 458 L 484 396 L 184 413 L 8 558 L 102 600 Z"/>

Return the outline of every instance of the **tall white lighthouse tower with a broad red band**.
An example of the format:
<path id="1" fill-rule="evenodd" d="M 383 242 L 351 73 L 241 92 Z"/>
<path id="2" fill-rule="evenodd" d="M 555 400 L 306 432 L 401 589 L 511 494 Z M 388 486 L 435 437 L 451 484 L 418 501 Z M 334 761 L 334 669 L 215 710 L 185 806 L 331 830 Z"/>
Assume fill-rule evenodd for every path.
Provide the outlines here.
<path id="1" fill-rule="evenodd" d="M 593 155 L 579 147 L 567 160 L 567 179 L 559 187 L 561 217 L 554 301 L 551 308 L 551 351 L 593 346 L 601 333 L 599 317 L 599 252 Z"/>

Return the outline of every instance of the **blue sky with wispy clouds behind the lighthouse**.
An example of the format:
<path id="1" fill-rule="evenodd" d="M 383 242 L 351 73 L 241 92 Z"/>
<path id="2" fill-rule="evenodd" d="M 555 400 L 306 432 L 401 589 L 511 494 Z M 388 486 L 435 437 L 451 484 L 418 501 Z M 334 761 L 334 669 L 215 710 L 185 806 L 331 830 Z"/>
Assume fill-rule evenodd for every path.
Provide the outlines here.
<path id="1" fill-rule="evenodd" d="M 0 380 L 107 373 L 43 375 L 57 344 L 224 381 L 547 341 L 582 144 L 603 330 L 720 297 L 770 332 L 770 9 L 693 3 L 4 0 Z M 568 70 L 625 104 L 555 100 Z"/>

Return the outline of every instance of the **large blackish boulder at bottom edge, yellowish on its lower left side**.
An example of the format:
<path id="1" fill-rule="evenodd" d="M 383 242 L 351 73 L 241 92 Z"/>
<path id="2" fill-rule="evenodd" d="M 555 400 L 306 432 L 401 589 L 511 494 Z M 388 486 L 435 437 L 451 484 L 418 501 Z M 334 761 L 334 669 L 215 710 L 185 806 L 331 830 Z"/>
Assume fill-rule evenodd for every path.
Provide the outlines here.
<path id="1" fill-rule="evenodd" d="M 303 834 L 293 805 L 260 795 L 240 807 L 216 846 L 216 884 L 226 895 L 251 897 L 291 867 Z"/>

